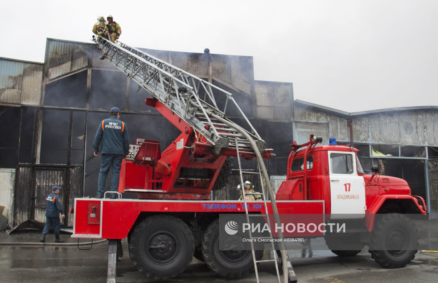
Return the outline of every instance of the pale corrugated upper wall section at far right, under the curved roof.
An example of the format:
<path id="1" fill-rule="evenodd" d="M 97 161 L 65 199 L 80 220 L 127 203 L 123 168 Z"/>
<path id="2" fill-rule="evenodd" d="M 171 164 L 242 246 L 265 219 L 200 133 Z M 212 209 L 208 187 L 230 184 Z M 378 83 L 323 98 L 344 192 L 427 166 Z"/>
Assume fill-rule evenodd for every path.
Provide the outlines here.
<path id="1" fill-rule="evenodd" d="M 438 112 L 399 111 L 353 116 L 354 142 L 438 146 Z"/>

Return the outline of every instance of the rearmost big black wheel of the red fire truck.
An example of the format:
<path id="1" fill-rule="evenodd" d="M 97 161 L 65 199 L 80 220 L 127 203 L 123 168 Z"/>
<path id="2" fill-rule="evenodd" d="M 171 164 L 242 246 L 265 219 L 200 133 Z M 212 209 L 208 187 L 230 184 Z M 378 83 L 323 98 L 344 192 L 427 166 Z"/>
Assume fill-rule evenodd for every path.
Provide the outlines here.
<path id="1" fill-rule="evenodd" d="M 137 269 L 154 279 L 177 276 L 193 258 L 194 238 L 187 224 L 170 215 L 145 218 L 131 235 L 129 255 Z"/>

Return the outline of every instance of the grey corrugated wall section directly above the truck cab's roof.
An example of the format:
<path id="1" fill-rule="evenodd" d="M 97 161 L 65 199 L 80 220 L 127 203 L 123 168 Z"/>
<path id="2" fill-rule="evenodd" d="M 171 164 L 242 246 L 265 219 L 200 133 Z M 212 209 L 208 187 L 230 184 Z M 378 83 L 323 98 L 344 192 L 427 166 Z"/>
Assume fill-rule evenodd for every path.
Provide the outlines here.
<path id="1" fill-rule="evenodd" d="M 329 123 L 330 126 L 327 132 L 328 136 L 330 136 L 331 138 L 336 138 L 338 141 L 350 141 L 350 130 L 348 128 L 348 121 L 345 117 L 329 114 L 324 111 L 318 111 L 316 109 L 297 104 L 294 105 L 294 116 L 295 121 Z M 305 141 L 309 141 L 309 135 L 307 135 Z M 324 141 L 325 140 L 323 140 L 323 142 Z M 326 141 L 328 143 L 328 140 Z"/>

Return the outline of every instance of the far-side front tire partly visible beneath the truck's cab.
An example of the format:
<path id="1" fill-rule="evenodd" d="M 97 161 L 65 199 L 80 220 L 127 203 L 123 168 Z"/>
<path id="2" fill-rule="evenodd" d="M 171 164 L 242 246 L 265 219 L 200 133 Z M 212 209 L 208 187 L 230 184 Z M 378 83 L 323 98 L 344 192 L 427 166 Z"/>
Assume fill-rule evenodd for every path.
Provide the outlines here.
<path id="1" fill-rule="evenodd" d="M 365 246 L 359 242 L 358 236 L 354 234 L 348 236 L 325 236 L 325 244 L 335 255 L 353 256 L 362 251 L 362 248 Z M 339 247 L 345 249 L 339 250 Z"/>

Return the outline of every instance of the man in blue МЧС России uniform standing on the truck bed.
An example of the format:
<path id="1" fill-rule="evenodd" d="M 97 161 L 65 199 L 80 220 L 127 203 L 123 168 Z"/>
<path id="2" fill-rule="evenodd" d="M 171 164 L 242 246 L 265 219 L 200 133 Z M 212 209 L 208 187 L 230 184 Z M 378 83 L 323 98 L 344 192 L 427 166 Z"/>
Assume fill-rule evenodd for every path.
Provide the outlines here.
<path id="1" fill-rule="evenodd" d="M 126 124 L 119 120 L 120 109 L 117 107 L 111 108 L 109 116 L 108 119 L 99 124 L 93 142 L 94 156 L 101 155 L 96 198 L 102 198 L 103 193 L 105 193 L 106 176 L 108 176 L 110 167 L 113 174 L 111 191 L 117 192 L 122 159 L 126 158 L 129 152 L 128 129 Z M 112 193 L 109 198 L 115 199 L 116 196 Z"/>

